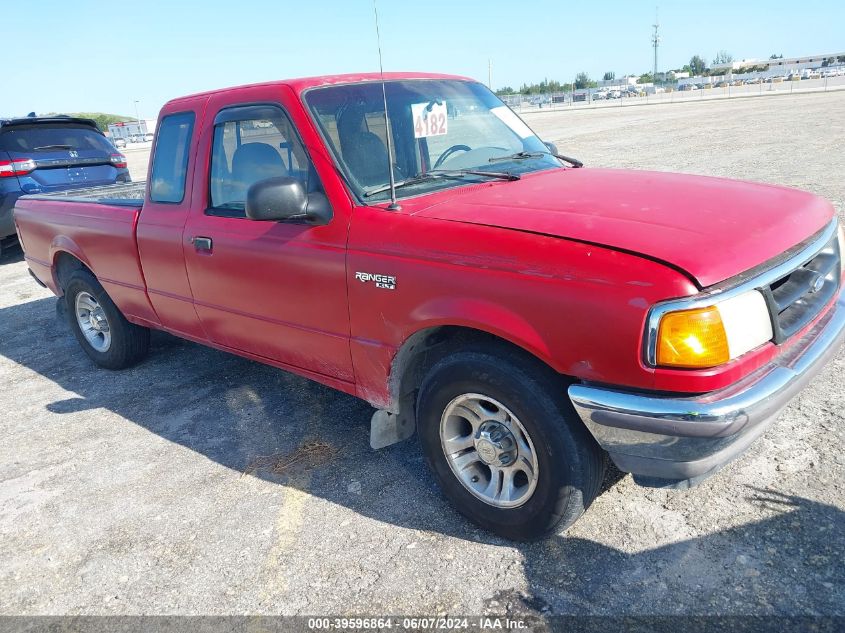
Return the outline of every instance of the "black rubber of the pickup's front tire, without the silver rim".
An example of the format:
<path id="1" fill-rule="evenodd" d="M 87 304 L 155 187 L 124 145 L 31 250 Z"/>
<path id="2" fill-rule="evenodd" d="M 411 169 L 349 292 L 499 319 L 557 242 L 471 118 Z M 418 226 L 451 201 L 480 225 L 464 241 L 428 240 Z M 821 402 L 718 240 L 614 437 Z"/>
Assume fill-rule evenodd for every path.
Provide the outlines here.
<path id="1" fill-rule="evenodd" d="M 522 505 L 490 505 L 452 472 L 440 441 L 440 420 L 448 404 L 462 394 L 497 400 L 531 438 L 537 483 Z M 417 430 L 429 467 L 455 508 L 508 539 L 537 540 L 568 528 L 595 499 L 604 478 L 604 452 L 566 399 L 565 381 L 506 346 L 467 348 L 438 362 L 420 388 Z"/>

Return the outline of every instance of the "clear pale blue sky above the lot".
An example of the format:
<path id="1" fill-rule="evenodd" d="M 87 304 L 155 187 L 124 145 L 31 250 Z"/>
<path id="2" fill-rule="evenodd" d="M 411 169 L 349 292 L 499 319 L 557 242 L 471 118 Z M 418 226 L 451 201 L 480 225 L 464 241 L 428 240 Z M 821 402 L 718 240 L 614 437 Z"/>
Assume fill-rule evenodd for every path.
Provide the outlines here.
<path id="1" fill-rule="evenodd" d="M 0 115 L 155 118 L 174 97 L 273 79 L 378 70 L 372 0 L 4 0 Z M 845 52 L 833 0 L 378 0 L 385 71 L 493 88 L 710 62 Z"/>

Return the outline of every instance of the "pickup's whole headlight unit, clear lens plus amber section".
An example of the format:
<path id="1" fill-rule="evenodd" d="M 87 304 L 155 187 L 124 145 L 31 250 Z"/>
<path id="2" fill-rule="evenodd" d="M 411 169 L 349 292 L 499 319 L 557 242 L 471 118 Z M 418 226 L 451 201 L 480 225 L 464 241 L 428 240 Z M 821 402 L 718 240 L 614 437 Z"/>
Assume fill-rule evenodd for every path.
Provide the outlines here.
<path id="1" fill-rule="evenodd" d="M 654 363 L 662 367 L 716 367 L 772 338 L 763 295 L 752 290 L 690 310 L 660 317 Z"/>

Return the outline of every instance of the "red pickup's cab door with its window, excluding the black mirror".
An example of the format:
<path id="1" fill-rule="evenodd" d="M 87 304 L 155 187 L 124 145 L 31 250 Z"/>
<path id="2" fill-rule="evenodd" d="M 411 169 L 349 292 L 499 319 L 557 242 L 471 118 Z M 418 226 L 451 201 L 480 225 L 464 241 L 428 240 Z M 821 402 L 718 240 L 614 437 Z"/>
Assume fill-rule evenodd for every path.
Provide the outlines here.
<path id="1" fill-rule="evenodd" d="M 250 185 L 290 176 L 321 191 L 281 105 L 209 102 L 193 205 L 183 235 L 194 305 L 214 343 L 305 372 L 353 380 L 346 298 L 348 215 L 324 226 L 254 221 Z M 278 95 L 274 95 L 278 101 Z M 203 150 L 205 148 L 205 150 Z"/>

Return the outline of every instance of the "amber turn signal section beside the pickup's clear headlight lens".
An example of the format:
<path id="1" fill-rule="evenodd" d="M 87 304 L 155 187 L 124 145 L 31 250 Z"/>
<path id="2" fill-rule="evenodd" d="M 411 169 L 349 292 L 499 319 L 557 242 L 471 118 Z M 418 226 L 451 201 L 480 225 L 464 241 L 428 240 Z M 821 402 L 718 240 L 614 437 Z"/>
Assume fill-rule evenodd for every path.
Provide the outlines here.
<path id="1" fill-rule="evenodd" d="M 730 360 L 728 337 L 716 306 L 668 312 L 657 333 L 657 364 L 701 369 Z"/>

